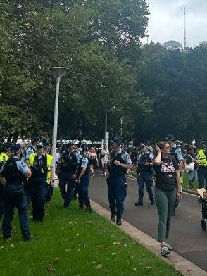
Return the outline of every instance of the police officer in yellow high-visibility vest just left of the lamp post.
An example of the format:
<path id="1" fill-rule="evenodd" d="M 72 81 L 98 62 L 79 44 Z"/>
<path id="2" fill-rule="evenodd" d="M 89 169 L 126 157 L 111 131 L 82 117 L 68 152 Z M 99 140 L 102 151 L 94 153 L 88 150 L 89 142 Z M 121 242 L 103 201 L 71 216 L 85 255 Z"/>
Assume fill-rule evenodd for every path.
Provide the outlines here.
<path id="1" fill-rule="evenodd" d="M 54 185 L 53 157 L 44 153 L 44 144 L 37 144 L 37 153 L 30 154 L 32 177 L 28 181 L 32 198 L 34 221 L 44 222 L 44 204 L 47 194 L 47 180 Z"/>

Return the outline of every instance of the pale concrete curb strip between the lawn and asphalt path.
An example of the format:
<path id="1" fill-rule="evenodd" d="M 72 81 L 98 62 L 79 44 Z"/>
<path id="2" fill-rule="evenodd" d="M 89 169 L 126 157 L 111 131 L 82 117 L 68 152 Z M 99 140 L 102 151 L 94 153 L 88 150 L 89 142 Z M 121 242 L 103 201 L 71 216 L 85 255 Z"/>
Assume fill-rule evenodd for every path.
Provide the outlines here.
<path id="1" fill-rule="evenodd" d="M 108 219 L 110 222 L 111 213 L 103 208 L 98 203 L 91 200 L 92 208 L 96 213 L 99 213 L 102 217 Z M 173 265 L 176 270 L 182 273 L 184 276 L 207 276 L 207 272 L 202 270 L 194 263 L 191 263 L 187 259 L 183 258 L 179 254 L 175 253 L 175 251 L 171 251 L 168 258 L 163 258 L 160 254 L 160 244 L 152 237 L 149 237 L 144 232 L 140 231 L 136 227 L 130 225 L 130 223 L 122 220 L 123 225 L 118 227 L 123 232 L 127 233 L 132 239 L 137 240 L 140 244 L 142 244 L 146 249 L 152 251 L 156 256 L 159 256 L 163 261 Z M 111 222 L 113 223 L 113 222 Z M 114 224 L 114 223 L 113 223 Z"/>

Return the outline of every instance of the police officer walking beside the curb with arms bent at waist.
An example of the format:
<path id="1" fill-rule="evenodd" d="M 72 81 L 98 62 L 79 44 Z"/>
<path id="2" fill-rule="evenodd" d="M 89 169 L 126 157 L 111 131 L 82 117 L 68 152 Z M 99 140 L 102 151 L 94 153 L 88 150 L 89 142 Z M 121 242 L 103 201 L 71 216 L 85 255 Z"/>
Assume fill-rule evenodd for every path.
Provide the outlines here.
<path id="1" fill-rule="evenodd" d="M 108 161 L 108 201 L 111 209 L 111 220 L 116 224 L 122 225 L 122 215 L 124 211 L 124 201 L 127 196 L 127 187 L 125 185 L 125 174 L 132 168 L 132 161 L 126 151 L 120 147 L 120 140 L 114 138 L 111 140 L 112 151 Z"/>

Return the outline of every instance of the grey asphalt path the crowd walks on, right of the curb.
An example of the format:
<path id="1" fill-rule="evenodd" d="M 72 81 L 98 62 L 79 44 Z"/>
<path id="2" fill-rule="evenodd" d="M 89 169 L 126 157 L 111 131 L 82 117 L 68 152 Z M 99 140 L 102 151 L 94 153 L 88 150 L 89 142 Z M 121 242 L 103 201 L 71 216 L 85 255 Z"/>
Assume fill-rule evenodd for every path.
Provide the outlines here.
<path id="1" fill-rule="evenodd" d="M 108 208 L 106 177 L 96 172 L 89 185 L 89 197 L 104 208 Z M 173 250 L 187 260 L 207 271 L 207 230 L 201 229 L 201 203 L 198 197 L 184 194 L 172 217 L 169 244 Z M 157 239 L 158 212 L 156 205 L 150 205 L 148 194 L 144 192 L 144 205 L 134 206 L 137 201 L 137 182 L 127 180 L 127 198 L 123 219 L 150 237 Z M 206 220 L 207 223 L 207 220 Z"/>

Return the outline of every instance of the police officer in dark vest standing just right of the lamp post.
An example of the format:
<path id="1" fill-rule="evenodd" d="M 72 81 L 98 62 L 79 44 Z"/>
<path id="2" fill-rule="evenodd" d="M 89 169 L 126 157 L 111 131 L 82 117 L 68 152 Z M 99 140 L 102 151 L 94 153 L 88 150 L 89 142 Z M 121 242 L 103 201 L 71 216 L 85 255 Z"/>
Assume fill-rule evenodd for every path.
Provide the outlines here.
<path id="1" fill-rule="evenodd" d="M 77 168 L 80 162 L 80 155 L 74 149 L 75 144 L 68 142 L 68 149 L 63 151 L 60 157 L 59 187 L 64 200 L 64 208 L 68 208 L 73 199 L 73 189 L 77 178 Z"/>

